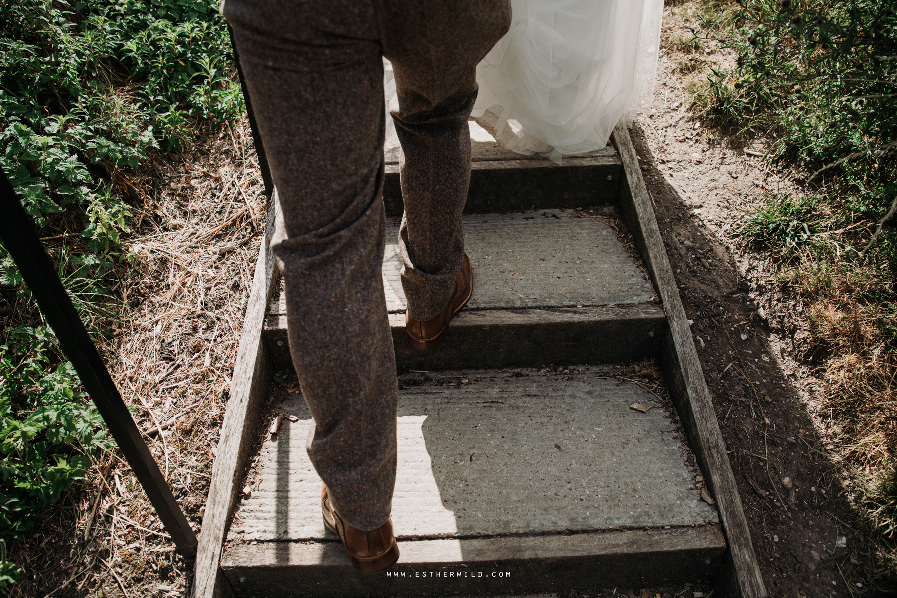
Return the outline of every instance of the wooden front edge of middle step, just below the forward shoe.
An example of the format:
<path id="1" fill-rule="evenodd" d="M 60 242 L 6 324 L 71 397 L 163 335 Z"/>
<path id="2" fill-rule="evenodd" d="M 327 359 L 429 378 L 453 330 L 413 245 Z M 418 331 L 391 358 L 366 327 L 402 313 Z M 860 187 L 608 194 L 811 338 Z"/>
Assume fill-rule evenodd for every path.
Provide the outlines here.
<path id="1" fill-rule="evenodd" d="M 389 326 L 396 368 L 404 372 L 646 360 L 658 354 L 666 316 L 656 303 L 462 311 L 431 351 L 408 344 L 405 314 L 390 314 Z M 274 368 L 289 369 L 286 316 L 267 316 L 264 335 Z"/>

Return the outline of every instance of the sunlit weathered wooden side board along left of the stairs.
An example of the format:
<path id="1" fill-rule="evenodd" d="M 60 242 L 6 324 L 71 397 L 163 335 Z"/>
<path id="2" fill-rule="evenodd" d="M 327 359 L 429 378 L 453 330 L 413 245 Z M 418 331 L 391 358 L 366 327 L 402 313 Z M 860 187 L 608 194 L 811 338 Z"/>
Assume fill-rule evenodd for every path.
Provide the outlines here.
<path id="1" fill-rule="evenodd" d="M 262 342 L 262 328 L 271 291 L 274 290 L 274 256 L 269 248 L 275 221 L 283 219 L 277 192 L 268 204 L 268 218 L 261 247 L 258 249 L 256 272 L 239 337 L 237 360 L 233 369 L 230 399 L 222 422 L 218 455 L 215 458 L 209 495 L 205 502 L 202 533 L 196 552 L 195 598 L 230 598 L 234 596 L 219 562 L 222 542 L 230 523 L 234 498 L 242 481 L 248 447 L 262 404 L 265 402 L 271 377 L 271 360 Z"/>

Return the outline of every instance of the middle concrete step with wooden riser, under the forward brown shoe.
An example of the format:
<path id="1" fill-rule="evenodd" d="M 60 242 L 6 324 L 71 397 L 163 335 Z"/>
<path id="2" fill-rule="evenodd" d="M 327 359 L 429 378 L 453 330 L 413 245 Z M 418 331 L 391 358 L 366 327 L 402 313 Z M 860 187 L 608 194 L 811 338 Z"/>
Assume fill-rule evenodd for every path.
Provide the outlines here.
<path id="1" fill-rule="evenodd" d="M 664 310 L 605 221 L 540 210 L 468 215 L 464 226 L 474 294 L 439 347 L 416 351 L 405 341 L 398 225 L 389 225 L 383 283 L 400 371 L 641 360 L 658 350 Z M 283 293 L 265 337 L 274 367 L 289 368 Z"/>

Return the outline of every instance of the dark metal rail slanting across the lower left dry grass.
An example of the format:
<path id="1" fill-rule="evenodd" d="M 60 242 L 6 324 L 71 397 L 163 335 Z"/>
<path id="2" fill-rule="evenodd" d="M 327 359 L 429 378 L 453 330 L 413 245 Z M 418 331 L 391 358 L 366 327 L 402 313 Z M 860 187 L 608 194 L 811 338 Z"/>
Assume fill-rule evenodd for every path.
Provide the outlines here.
<path id="1" fill-rule="evenodd" d="M 168 482 L 150 455 L 144 439 L 140 437 L 140 430 L 127 411 L 118 388 L 109 377 L 109 370 L 100 359 L 100 353 L 65 292 L 62 281 L 34 230 L 34 224 L 22 208 L 6 174 L 0 170 L 0 175 L 0 213 L 3 214 L 0 217 L 0 238 L 3 239 L 6 250 L 19 266 L 22 278 L 38 301 L 40 311 L 53 328 L 65 355 L 72 361 L 84 388 L 97 405 L 112 437 L 149 496 L 152 507 L 155 507 L 162 524 L 171 534 L 171 539 L 177 544 L 181 554 L 194 557 L 196 534 L 171 494 Z"/>

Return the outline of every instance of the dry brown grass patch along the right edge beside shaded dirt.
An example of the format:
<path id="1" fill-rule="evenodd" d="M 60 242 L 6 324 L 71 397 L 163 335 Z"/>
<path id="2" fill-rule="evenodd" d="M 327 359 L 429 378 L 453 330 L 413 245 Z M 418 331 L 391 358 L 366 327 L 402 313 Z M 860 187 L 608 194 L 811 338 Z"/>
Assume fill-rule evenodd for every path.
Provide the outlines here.
<path id="1" fill-rule="evenodd" d="M 851 476 L 851 500 L 885 543 L 884 562 L 897 566 L 890 525 L 897 496 L 889 496 L 897 451 L 897 350 L 885 326 L 893 325 L 884 264 L 830 270 L 804 265 L 791 283 L 806 303 L 807 323 L 827 348 L 817 386 L 819 412 L 828 415 L 834 453 Z M 893 492 L 893 490 L 892 490 Z"/>

